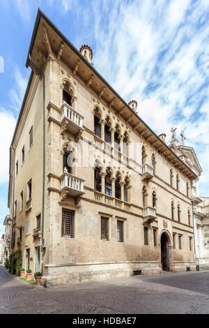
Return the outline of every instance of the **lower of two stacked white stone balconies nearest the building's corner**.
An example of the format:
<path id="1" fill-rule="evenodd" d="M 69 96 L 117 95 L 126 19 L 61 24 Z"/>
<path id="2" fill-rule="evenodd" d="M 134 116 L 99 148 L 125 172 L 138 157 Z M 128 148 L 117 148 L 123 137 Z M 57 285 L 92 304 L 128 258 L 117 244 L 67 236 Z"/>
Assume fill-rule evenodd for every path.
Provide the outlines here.
<path id="1" fill-rule="evenodd" d="M 61 198 L 67 195 L 77 197 L 84 195 L 84 177 L 76 177 L 68 172 L 63 172 L 61 179 Z"/>

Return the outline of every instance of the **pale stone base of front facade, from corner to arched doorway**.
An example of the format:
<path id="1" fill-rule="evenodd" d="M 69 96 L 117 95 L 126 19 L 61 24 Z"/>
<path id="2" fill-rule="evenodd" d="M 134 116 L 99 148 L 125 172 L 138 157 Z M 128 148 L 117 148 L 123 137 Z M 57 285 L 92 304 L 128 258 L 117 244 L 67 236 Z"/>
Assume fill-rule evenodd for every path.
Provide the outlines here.
<path id="1" fill-rule="evenodd" d="M 47 274 L 42 276 L 41 285 L 65 285 L 70 283 L 84 283 L 88 281 L 102 281 L 125 276 L 162 274 L 159 262 L 123 262 L 105 264 L 49 264 Z"/>

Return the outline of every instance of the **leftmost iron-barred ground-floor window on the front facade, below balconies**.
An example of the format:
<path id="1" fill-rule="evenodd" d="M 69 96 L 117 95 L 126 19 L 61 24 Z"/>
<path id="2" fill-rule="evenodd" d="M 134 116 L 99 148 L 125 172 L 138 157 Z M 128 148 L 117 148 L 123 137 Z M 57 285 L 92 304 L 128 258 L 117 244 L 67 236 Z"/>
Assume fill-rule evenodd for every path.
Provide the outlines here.
<path id="1" fill-rule="evenodd" d="M 75 238 L 75 211 L 63 209 L 61 237 Z"/>

